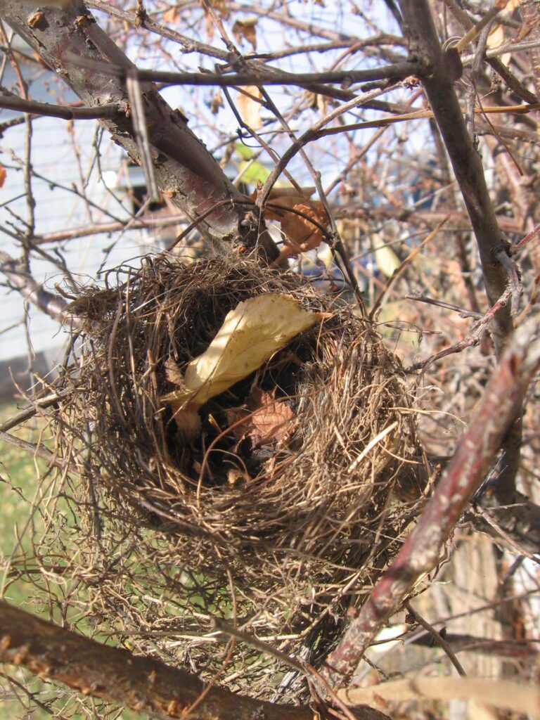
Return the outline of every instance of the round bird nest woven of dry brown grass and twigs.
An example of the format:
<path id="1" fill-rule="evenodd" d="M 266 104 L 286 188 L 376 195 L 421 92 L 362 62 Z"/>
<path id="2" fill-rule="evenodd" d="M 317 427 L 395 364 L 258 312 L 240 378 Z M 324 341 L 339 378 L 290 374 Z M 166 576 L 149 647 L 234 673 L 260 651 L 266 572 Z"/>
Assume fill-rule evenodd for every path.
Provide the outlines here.
<path id="1" fill-rule="evenodd" d="M 162 627 L 209 632 L 212 617 L 236 613 L 248 631 L 264 616 L 267 635 L 305 641 L 321 618 L 361 603 L 415 517 L 423 453 L 400 361 L 349 305 L 255 261 L 145 258 L 108 283 L 71 306 L 84 330 L 58 380 L 58 452 L 83 480 L 89 516 L 130 537 L 130 587 L 149 562 L 156 575 L 137 603 L 125 582 L 98 598 L 103 575 L 94 606 L 110 618 L 116 603 L 126 628 L 130 613 L 111 599 L 124 593 L 138 608 L 132 629 L 155 627 L 159 612 L 149 602 L 151 618 L 141 614 L 141 593 L 162 600 L 174 577 L 174 620 L 163 611 Z M 317 322 L 204 402 L 182 436 L 163 401 L 175 372 L 207 350 L 228 312 L 267 294 L 294 298 Z M 197 652 L 183 652 L 199 670 Z"/>

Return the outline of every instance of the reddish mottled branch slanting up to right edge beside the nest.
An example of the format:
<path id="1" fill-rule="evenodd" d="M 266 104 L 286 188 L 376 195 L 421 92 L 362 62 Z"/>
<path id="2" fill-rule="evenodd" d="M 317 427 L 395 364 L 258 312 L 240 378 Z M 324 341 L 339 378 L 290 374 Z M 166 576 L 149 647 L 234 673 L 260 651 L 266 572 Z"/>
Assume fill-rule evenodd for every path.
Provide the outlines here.
<path id="1" fill-rule="evenodd" d="M 436 566 L 445 541 L 490 469 L 539 369 L 540 339 L 532 337 L 531 324 L 516 332 L 418 524 L 328 656 L 326 673 L 334 685 L 348 683 L 377 631 L 399 610 L 416 582 Z"/>

